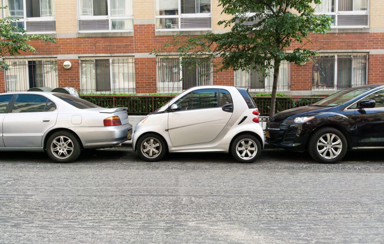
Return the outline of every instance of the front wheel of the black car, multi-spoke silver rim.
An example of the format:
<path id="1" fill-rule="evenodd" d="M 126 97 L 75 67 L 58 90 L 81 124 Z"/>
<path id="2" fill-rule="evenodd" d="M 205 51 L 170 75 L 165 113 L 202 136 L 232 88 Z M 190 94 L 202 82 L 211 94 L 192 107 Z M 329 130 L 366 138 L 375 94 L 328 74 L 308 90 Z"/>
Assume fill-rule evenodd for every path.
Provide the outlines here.
<path id="1" fill-rule="evenodd" d="M 311 136 L 308 151 L 311 157 L 323 164 L 334 164 L 345 156 L 348 142 L 344 134 L 332 127 L 321 128 Z"/>

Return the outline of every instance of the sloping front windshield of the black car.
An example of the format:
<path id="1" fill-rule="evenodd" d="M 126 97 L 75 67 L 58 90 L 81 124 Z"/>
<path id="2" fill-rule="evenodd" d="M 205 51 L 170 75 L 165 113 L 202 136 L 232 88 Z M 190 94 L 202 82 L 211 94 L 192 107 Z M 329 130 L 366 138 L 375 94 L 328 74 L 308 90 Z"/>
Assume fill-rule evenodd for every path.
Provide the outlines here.
<path id="1" fill-rule="evenodd" d="M 313 103 L 311 106 L 320 106 L 320 107 L 334 107 L 342 105 L 349 100 L 352 100 L 359 95 L 369 92 L 370 90 L 376 87 L 364 87 L 364 88 L 351 88 L 347 90 L 343 90 L 341 92 L 334 93 L 329 97 L 326 97 L 319 102 Z"/>

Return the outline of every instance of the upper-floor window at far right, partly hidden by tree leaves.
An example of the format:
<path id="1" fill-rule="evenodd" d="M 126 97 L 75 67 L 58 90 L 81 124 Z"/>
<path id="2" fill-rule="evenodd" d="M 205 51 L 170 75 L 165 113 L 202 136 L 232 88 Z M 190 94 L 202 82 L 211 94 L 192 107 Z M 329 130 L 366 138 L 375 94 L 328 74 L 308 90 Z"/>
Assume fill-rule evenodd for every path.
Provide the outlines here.
<path id="1" fill-rule="evenodd" d="M 315 12 L 331 16 L 333 28 L 369 26 L 368 0 L 323 0 Z"/>

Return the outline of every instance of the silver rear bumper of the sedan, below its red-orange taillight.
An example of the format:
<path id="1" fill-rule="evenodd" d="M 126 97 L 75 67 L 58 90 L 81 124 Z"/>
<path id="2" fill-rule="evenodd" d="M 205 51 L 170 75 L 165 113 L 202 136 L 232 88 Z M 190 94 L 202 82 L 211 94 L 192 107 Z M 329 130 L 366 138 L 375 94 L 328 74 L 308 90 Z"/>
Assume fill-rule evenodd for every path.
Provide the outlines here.
<path id="1" fill-rule="evenodd" d="M 84 148 L 113 147 L 132 137 L 132 124 L 118 126 L 71 127 Z"/>

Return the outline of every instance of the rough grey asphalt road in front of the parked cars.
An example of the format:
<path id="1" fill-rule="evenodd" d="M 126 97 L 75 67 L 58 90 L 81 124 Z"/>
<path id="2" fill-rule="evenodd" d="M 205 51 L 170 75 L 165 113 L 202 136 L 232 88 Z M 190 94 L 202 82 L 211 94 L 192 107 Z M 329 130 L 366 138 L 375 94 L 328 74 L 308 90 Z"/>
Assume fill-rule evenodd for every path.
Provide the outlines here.
<path id="1" fill-rule="evenodd" d="M 71 164 L 0 153 L 0 243 L 384 243 L 383 151 L 318 164 L 267 149 L 142 162 L 127 147 Z"/>

